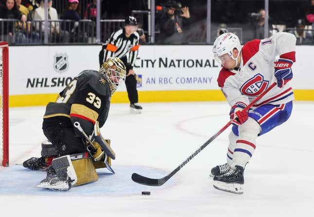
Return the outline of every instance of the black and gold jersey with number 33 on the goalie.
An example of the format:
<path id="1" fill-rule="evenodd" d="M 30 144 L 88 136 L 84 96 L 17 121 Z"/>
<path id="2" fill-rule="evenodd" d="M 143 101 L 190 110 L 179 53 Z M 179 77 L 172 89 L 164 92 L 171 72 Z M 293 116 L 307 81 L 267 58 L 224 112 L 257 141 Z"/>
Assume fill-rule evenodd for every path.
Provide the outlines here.
<path id="1" fill-rule="evenodd" d="M 59 93 L 55 102 L 48 103 L 43 128 L 72 127 L 75 121 L 79 121 L 90 135 L 97 120 L 100 127 L 105 123 L 110 100 L 108 80 L 97 71 L 85 70 Z"/>

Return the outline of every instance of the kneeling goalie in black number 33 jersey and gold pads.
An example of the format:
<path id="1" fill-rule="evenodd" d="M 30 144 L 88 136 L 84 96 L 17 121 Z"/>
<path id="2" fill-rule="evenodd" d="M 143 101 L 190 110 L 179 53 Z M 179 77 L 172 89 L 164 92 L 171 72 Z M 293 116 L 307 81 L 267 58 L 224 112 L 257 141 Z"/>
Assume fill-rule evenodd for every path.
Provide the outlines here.
<path id="1" fill-rule="evenodd" d="M 111 57 L 98 72 L 81 72 L 55 102 L 48 103 L 42 129 L 49 141 L 42 143 L 42 157 L 23 162 L 26 168 L 47 172 L 37 187 L 66 191 L 98 180 L 97 168 L 114 173 L 115 153 L 99 127 L 108 117 L 111 95 L 125 78 L 125 65 Z"/>

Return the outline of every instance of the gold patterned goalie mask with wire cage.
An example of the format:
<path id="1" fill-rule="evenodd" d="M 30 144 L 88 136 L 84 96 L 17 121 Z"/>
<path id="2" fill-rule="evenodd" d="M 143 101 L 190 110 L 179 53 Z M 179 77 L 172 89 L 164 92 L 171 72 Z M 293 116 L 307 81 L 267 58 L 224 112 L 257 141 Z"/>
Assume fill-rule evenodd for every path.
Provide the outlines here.
<path id="1" fill-rule="evenodd" d="M 100 67 L 99 73 L 108 79 L 111 95 L 118 88 L 118 85 L 126 79 L 127 76 L 126 66 L 121 61 L 121 59 L 117 57 L 111 57 L 107 59 Z"/>

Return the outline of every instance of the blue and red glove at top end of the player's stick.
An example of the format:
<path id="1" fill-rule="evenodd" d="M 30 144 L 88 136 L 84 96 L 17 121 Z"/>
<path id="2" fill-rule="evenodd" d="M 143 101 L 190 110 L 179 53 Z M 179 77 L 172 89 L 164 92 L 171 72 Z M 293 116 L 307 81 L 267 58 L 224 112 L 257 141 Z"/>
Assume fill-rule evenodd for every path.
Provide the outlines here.
<path id="1" fill-rule="evenodd" d="M 275 77 L 278 87 L 282 88 L 293 78 L 292 64 L 293 61 L 290 59 L 278 59 L 278 61 L 275 62 Z"/>

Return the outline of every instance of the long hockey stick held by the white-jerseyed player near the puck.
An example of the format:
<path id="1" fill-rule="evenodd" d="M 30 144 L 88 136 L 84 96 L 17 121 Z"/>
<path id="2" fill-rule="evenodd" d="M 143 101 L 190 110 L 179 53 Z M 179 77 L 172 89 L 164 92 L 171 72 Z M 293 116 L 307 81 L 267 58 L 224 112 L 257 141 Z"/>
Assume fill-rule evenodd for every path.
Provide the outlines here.
<path id="1" fill-rule="evenodd" d="M 255 98 L 248 106 L 246 106 L 243 110 L 247 111 L 249 110 L 259 99 L 261 99 L 265 94 L 267 94 L 274 86 L 276 86 L 277 83 L 274 82 L 270 87 L 268 87 L 263 93 L 261 93 L 257 98 Z M 218 131 L 214 136 L 209 138 L 200 148 L 198 148 L 192 155 L 190 155 L 188 158 L 185 159 L 177 168 L 175 168 L 171 173 L 169 173 L 167 176 L 163 178 L 148 178 L 143 177 L 137 173 L 132 174 L 132 180 L 136 183 L 142 184 L 142 185 L 149 185 L 149 186 L 161 186 L 165 184 L 165 182 L 171 178 L 174 174 L 176 174 L 182 167 L 185 166 L 192 158 L 194 158 L 197 154 L 199 154 L 210 142 L 212 142 L 215 138 L 217 138 L 225 129 L 227 129 L 231 125 L 231 120 L 222 127 L 220 131 Z"/>

